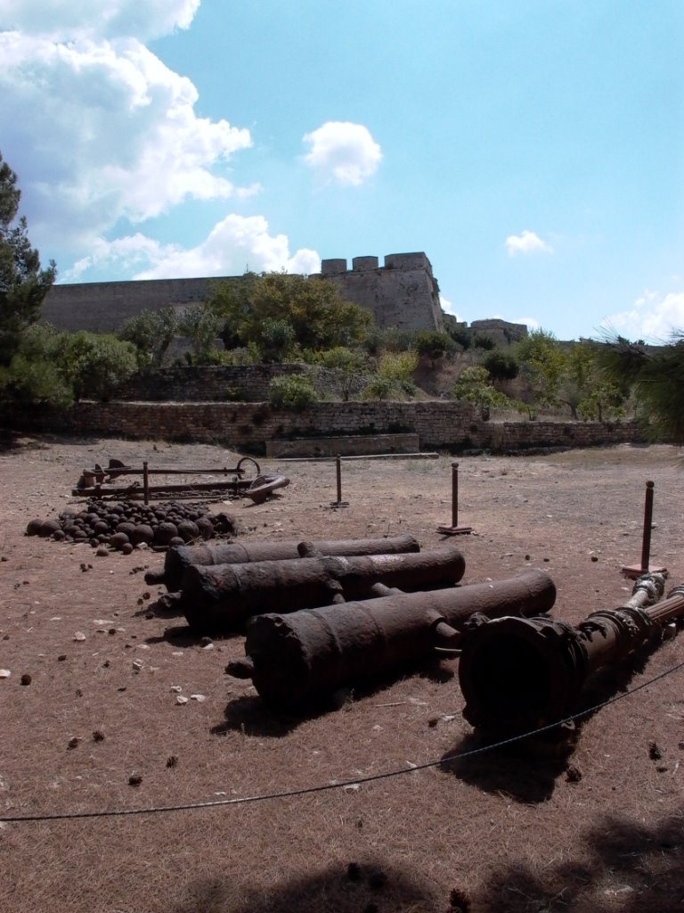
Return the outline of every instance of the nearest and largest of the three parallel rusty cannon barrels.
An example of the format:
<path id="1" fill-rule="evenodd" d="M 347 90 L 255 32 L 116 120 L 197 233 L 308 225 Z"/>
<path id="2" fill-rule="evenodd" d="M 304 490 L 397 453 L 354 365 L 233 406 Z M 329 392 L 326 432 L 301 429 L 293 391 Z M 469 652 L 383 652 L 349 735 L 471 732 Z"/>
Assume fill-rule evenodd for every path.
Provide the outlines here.
<path id="1" fill-rule="evenodd" d="M 228 671 L 251 677 L 269 706 L 295 708 L 415 666 L 433 656 L 436 646 L 458 646 L 461 625 L 473 612 L 540 614 L 554 601 L 552 579 L 529 571 L 500 582 L 257 615 L 247 625 L 246 658 Z"/>

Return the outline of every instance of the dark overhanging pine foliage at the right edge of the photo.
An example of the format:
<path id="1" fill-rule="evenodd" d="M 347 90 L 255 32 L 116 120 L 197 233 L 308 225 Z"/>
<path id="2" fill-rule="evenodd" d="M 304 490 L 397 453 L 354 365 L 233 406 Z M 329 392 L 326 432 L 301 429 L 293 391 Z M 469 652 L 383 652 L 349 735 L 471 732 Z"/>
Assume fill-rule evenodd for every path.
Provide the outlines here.
<path id="1" fill-rule="evenodd" d="M 658 347 L 617 336 L 597 346 L 597 358 L 606 383 L 631 388 L 648 435 L 684 446 L 684 331 Z"/>

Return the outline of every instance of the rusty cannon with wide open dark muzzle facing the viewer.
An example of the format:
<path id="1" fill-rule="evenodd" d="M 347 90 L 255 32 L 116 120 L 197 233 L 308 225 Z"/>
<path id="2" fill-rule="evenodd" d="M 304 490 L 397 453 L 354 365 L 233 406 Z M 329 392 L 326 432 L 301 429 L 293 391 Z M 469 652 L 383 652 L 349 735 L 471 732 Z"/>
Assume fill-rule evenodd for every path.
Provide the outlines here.
<path id="1" fill-rule="evenodd" d="M 629 603 L 592 613 L 576 627 L 546 618 L 479 624 L 462 646 L 463 716 L 493 735 L 534 731 L 571 716 L 589 676 L 658 644 L 665 625 L 684 615 L 684 587 L 648 607 L 661 593 L 662 583 L 653 589 L 642 577 Z"/>

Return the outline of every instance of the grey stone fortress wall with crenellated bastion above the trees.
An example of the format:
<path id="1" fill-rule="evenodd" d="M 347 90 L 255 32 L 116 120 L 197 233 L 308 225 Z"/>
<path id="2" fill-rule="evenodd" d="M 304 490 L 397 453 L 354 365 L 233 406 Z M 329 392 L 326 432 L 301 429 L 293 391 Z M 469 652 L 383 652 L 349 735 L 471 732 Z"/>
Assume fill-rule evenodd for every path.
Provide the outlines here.
<path id="1" fill-rule="evenodd" d="M 342 297 L 368 309 L 379 327 L 442 330 L 440 295 L 430 260 L 423 253 L 389 254 L 383 267 L 378 257 L 323 260 L 320 274 L 332 279 Z M 212 282 L 242 281 L 240 276 L 146 279 L 128 282 L 85 282 L 57 285 L 43 304 L 43 320 L 59 330 L 117 331 L 141 310 L 179 310 L 207 297 Z"/>

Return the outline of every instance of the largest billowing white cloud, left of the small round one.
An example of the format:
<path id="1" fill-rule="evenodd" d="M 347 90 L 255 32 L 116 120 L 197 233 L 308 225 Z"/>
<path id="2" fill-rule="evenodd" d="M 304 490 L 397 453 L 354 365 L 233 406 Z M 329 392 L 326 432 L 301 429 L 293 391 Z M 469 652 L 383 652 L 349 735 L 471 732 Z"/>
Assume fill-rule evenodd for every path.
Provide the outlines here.
<path id="1" fill-rule="evenodd" d="M 4 32 L 0 58 L 3 152 L 39 246 L 51 236 L 84 246 L 121 218 L 236 192 L 214 170 L 251 145 L 249 131 L 198 117 L 191 80 L 137 38 Z"/>

